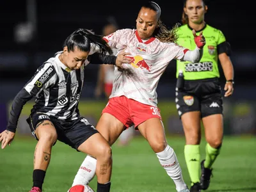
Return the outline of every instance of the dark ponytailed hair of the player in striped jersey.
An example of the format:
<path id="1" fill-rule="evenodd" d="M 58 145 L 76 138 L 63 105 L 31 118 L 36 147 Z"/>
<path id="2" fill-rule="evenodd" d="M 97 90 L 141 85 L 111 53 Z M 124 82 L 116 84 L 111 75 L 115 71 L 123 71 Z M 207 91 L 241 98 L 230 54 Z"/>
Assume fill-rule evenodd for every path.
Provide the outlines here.
<path id="1" fill-rule="evenodd" d="M 67 46 L 68 51 L 74 51 L 74 48 L 77 47 L 81 51 L 90 52 L 91 44 L 97 45 L 101 53 L 113 53 L 108 43 L 102 39 L 102 36 L 96 35 L 89 29 L 81 28 L 67 37 L 64 42 L 64 47 Z"/>

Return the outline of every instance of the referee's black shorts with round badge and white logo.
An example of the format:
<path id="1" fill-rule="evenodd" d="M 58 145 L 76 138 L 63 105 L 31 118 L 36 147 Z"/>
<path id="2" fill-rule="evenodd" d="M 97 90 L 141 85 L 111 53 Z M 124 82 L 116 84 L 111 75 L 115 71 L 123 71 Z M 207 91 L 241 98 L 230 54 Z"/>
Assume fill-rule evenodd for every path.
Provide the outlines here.
<path id="1" fill-rule="evenodd" d="M 185 80 L 183 88 L 176 88 L 176 108 L 179 116 L 200 111 L 201 118 L 222 114 L 223 101 L 218 78 Z"/>

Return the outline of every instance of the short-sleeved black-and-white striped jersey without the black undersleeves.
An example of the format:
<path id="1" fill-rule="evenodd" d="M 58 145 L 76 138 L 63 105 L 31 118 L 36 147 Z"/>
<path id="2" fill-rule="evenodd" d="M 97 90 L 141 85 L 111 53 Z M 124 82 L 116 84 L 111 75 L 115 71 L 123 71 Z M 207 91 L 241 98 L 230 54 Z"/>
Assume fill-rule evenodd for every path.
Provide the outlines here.
<path id="1" fill-rule="evenodd" d="M 84 65 L 79 70 L 67 71 L 57 52 L 36 70 L 24 86 L 36 97 L 32 113 L 45 113 L 60 120 L 75 120 L 79 116 L 78 102 L 84 81 Z"/>

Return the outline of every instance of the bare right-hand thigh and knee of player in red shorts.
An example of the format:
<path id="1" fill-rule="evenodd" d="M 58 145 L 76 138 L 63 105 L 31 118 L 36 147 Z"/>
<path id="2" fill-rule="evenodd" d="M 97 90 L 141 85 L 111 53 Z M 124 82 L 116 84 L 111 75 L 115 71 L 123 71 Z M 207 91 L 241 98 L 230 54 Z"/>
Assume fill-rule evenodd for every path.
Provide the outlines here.
<path id="1" fill-rule="evenodd" d="M 150 118 L 138 125 L 138 129 L 148 141 L 154 152 L 161 152 L 167 145 L 163 122 L 159 118 Z"/>

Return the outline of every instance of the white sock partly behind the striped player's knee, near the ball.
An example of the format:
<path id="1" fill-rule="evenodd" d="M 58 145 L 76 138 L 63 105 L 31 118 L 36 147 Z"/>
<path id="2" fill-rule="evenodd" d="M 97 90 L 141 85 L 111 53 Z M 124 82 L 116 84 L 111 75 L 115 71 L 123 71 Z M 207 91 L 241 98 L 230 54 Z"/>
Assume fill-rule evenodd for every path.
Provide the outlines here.
<path id="1" fill-rule="evenodd" d="M 88 185 L 93 179 L 96 173 L 97 160 L 91 156 L 86 156 L 79 170 L 76 173 L 76 177 L 72 186 L 76 185 Z"/>

